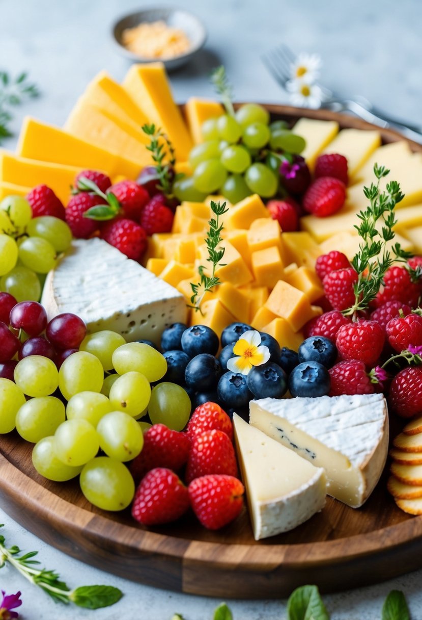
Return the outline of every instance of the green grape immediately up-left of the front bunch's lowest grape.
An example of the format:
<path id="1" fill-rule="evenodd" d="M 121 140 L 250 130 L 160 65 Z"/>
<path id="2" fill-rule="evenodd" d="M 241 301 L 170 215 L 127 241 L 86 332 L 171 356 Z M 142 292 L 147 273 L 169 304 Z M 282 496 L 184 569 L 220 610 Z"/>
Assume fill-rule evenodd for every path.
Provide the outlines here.
<path id="1" fill-rule="evenodd" d="M 92 424 L 76 418 L 62 422 L 56 429 L 54 446 L 59 461 L 78 467 L 94 458 L 100 448 L 100 438 Z"/>

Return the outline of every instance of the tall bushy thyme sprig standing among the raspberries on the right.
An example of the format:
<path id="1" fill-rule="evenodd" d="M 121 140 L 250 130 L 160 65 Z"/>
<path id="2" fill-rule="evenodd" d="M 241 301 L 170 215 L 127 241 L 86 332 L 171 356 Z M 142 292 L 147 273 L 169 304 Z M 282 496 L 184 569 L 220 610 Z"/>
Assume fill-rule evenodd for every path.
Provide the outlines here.
<path id="1" fill-rule="evenodd" d="M 397 223 L 394 208 L 404 197 L 397 181 L 387 183 L 384 192 L 379 189 L 381 179 L 389 172 L 384 166 L 375 164 L 377 183 L 363 188 L 370 205 L 358 213 L 361 222 L 359 226 L 355 225 L 362 241 L 359 252 L 351 261 L 352 267 L 358 273 L 358 281 L 355 284 L 355 303 L 343 311 L 347 316 L 355 317 L 358 311 L 368 308 L 384 283 L 387 269 L 394 262 L 405 261 L 411 257 L 411 253 L 403 250 L 398 243 L 392 245 L 391 252 L 387 250 L 387 242 L 394 239 L 393 228 Z"/>

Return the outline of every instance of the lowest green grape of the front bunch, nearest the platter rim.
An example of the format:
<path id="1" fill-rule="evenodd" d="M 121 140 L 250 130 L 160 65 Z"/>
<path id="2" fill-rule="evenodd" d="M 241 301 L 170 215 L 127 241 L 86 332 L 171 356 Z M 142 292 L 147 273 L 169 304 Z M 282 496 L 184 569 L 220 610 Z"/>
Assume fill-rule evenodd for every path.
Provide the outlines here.
<path id="1" fill-rule="evenodd" d="M 108 456 L 97 456 L 89 461 L 82 469 L 79 482 L 88 502 L 103 510 L 124 510 L 135 495 L 129 469 Z"/>

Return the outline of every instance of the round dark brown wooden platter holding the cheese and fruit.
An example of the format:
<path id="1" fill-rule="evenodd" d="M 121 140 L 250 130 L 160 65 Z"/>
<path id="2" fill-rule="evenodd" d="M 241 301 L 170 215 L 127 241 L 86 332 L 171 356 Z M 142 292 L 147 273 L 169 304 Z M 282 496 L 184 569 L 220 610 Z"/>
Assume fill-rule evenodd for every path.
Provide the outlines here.
<path id="1" fill-rule="evenodd" d="M 306 116 L 337 120 L 342 128 L 374 129 L 324 110 L 267 109 L 291 123 Z M 402 139 L 395 131 L 380 131 L 385 143 Z M 409 144 L 422 152 L 421 145 Z M 399 430 L 395 424 L 392 420 L 393 436 Z M 246 508 L 216 533 L 194 516 L 176 525 L 142 528 L 129 510 L 106 513 L 92 507 L 75 480 L 43 479 L 32 466 L 31 452 L 32 445 L 16 432 L 0 437 L 1 507 L 65 553 L 140 583 L 218 598 L 282 598 L 305 583 L 316 583 L 323 592 L 344 590 L 422 567 L 422 516 L 411 517 L 395 506 L 386 489 L 387 468 L 362 508 L 328 498 L 324 510 L 299 528 L 256 542 Z"/>

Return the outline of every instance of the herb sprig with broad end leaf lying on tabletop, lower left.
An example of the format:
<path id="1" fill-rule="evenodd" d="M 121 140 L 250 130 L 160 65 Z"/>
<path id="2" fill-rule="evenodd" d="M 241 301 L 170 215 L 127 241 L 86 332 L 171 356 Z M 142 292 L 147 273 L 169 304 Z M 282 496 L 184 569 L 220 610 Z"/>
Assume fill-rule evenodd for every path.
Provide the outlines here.
<path id="1" fill-rule="evenodd" d="M 122 598 L 123 593 L 118 588 L 108 585 L 88 585 L 71 590 L 55 570 L 35 568 L 35 565 L 40 564 L 33 559 L 37 554 L 38 551 L 22 554 L 16 545 L 6 547 L 5 538 L 0 534 L 0 569 L 8 562 L 28 582 L 40 587 L 54 601 L 74 603 L 86 609 L 99 609 L 113 605 Z"/>

